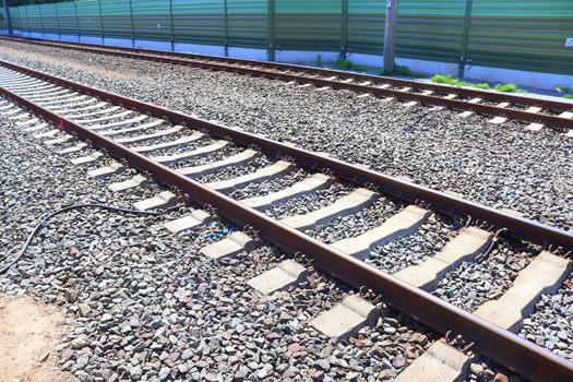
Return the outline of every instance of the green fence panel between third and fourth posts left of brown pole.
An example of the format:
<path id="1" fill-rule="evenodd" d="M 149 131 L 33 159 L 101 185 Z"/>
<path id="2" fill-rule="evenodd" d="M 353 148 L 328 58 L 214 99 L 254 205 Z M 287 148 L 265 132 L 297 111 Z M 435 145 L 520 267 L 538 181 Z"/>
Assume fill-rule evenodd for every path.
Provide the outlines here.
<path id="1" fill-rule="evenodd" d="M 176 43 L 224 45 L 224 0 L 172 0 Z"/>

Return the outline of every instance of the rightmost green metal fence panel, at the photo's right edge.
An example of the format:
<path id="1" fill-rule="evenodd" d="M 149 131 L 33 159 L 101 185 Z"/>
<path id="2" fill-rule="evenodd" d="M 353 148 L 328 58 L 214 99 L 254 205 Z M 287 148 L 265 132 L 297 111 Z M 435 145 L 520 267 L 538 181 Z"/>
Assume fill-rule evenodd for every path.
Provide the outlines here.
<path id="1" fill-rule="evenodd" d="M 475 65 L 573 74 L 573 0 L 474 0 L 468 59 Z"/>

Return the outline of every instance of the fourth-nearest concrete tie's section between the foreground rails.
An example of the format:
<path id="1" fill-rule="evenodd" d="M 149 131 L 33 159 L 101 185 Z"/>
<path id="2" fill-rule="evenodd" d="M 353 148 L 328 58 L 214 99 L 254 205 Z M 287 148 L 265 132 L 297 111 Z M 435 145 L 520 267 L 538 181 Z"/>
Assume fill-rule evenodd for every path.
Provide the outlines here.
<path id="1" fill-rule="evenodd" d="M 329 223 L 341 216 L 351 215 L 366 208 L 377 199 L 375 192 L 367 189 L 357 189 L 346 196 L 336 200 L 333 204 L 308 214 L 285 217 L 280 223 L 289 227 L 306 230 L 319 224 Z"/>

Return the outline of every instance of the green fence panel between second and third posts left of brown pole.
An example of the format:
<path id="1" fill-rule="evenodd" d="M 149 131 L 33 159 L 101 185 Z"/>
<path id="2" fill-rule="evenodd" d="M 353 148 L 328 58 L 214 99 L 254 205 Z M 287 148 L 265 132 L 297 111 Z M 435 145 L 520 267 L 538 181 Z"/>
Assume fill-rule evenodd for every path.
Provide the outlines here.
<path id="1" fill-rule="evenodd" d="M 227 0 L 229 46 L 266 49 L 267 0 Z"/>

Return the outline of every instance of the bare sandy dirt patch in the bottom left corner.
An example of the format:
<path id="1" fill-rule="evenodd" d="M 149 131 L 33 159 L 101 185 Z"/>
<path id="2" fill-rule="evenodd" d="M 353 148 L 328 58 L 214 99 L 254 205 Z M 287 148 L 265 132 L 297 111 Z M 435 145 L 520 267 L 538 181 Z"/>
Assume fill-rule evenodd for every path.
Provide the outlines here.
<path id="1" fill-rule="evenodd" d="M 63 332 L 60 309 L 31 297 L 0 297 L 0 381 L 76 381 L 52 365 Z"/>

